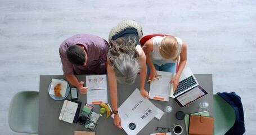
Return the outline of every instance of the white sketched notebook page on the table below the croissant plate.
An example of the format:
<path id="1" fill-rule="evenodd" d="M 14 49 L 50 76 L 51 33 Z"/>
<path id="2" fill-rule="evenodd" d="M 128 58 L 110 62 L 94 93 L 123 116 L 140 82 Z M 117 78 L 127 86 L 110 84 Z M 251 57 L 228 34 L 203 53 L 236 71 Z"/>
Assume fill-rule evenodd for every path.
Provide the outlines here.
<path id="1" fill-rule="evenodd" d="M 77 112 L 77 108 L 78 103 L 65 100 L 60 112 L 59 120 L 72 124 L 75 118 L 75 113 Z"/>

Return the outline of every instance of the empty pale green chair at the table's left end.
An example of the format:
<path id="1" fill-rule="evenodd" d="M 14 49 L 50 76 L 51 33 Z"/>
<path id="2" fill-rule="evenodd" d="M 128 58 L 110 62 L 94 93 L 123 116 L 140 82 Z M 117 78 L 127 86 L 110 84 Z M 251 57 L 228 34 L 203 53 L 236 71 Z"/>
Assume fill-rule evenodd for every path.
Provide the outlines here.
<path id="1" fill-rule="evenodd" d="M 38 133 L 38 112 L 39 92 L 17 92 L 9 108 L 9 127 L 18 133 Z"/>

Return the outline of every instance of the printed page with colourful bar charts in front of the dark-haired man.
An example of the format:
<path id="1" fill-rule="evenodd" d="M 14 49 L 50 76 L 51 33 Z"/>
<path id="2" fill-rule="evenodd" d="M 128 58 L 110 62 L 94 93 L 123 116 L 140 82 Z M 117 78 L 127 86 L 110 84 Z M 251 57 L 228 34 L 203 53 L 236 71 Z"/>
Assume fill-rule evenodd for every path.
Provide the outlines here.
<path id="1" fill-rule="evenodd" d="M 107 79 L 106 75 L 87 75 L 86 86 L 87 104 L 107 103 Z"/>

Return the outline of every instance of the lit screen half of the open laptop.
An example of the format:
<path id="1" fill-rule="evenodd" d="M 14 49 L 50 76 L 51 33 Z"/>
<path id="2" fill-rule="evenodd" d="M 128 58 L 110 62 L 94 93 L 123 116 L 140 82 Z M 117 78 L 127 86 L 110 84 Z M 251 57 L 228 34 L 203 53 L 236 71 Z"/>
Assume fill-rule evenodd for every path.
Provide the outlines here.
<path id="1" fill-rule="evenodd" d="M 174 100 L 178 103 L 179 106 L 184 107 L 205 96 L 206 94 L 208 93 L 201 86 L 196 86 L 195 88 L 192 88 L 182 95 L 174 98 Z"/>

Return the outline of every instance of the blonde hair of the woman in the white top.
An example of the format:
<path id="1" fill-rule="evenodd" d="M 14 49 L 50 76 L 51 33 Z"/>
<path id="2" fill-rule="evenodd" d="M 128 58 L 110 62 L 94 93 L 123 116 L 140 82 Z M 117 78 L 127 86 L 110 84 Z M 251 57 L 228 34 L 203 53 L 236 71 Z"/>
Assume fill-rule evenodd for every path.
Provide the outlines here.
<path id="1" fill-rule="evenodd" d="M 172 35 L 168 35 L 163 38 L 159 46 L 159 53 L 164 59 L 176 60 L 179 56 L 178 41 Z"/>

